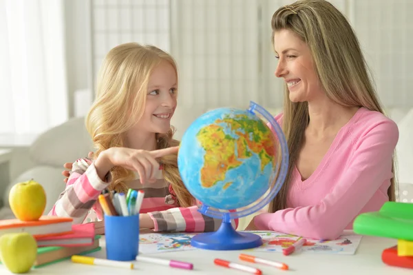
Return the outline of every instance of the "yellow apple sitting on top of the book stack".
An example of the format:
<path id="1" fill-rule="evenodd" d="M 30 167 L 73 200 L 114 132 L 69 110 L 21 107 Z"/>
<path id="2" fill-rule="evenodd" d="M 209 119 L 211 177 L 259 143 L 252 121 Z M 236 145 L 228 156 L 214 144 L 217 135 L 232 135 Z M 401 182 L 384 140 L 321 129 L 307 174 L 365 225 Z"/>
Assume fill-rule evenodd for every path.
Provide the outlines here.
<path id="1" fill-rule="evenodd" d="M 46 207 L 46 193 L 40 183 L 25 181 L 13 185 L 9 193 L 10 208 L 21 221 L 38 221 Z"/>

